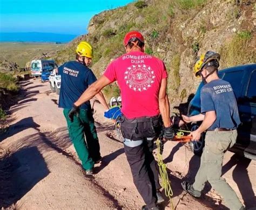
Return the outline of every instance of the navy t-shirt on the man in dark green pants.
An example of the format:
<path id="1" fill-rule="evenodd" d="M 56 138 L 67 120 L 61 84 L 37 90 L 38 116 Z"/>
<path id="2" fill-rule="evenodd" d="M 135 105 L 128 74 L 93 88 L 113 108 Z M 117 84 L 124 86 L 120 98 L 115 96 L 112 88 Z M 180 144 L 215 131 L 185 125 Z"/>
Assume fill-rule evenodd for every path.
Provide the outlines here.
<path id="1" fill-rule="evenodd" d="M 73 103 L 83 94 L 89 85 L 97 79 L 95 74 L 85 65 L 76 61 L 64 63 L 58 67 L 58 74 L 62 76 L 59 93 L 59 107 L 71 109 Z M 90 101 L 81 105 L 81 109 L 88 109 Z"/>

